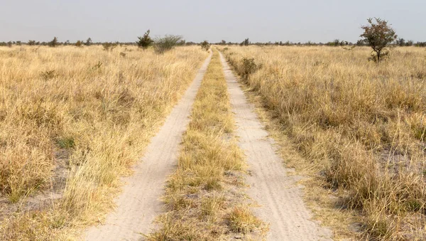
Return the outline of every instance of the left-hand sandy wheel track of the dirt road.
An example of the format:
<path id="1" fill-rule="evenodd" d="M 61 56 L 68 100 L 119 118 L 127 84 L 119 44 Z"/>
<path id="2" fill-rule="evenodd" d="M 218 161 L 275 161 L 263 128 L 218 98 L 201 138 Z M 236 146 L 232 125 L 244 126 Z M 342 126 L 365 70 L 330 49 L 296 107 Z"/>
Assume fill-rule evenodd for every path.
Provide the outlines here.
<path id="1" fill-rule="evenodd" d="M 190 122 L 192 103 L 200 87 L 212 54 L 205 60 L 195 80 L 165 120 L 160 132 L 151 139 L 146 154 L 133 168 L 133 176 L 124 178 L 124 188 L 116 199 L 116 210 L 99 226 L 90 227 L 85 240 L 140 240 L 148 234 L 153 220 L 162 212 L 159 200 L 165 180 L 178 163 L 182 134 Z"/>

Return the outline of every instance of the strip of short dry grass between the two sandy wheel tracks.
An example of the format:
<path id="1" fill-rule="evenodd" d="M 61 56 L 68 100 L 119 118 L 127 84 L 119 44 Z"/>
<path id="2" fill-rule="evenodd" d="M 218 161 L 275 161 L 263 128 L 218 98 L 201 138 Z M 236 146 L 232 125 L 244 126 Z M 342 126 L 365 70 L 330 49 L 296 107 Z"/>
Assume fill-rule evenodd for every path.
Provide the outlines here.
<path id="1" fill-rule="evenodd" d="M 234 120 L 217 52 L 191 119 L 178 169 L 166 187 L 167 213 L 158 220 L 160 230 L 148 240 L 227 240 L 236 232 L 260 232 L 262 223 L 242 204 L 246 203 L 244 158 L 233 136 Z"/>

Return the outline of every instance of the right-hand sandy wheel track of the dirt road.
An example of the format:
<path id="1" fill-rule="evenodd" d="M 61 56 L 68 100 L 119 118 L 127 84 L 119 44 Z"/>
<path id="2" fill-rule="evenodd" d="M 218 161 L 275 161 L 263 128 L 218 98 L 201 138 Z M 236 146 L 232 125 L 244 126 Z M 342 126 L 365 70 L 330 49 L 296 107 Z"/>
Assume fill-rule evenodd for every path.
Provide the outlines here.
<path id="1" fill-rule="evenodd" d="M 221 61 L 235 114 L 239 146 L 249 165 L 247 194 L 261 205 L 253 211 L 269 223 L 268 240 L 331 240 L 330 230 L 310 220 L 296 178 L 286 174 L 283 159 L 275 154 L 273 139 L 268 138 L 222 53 Z"/>

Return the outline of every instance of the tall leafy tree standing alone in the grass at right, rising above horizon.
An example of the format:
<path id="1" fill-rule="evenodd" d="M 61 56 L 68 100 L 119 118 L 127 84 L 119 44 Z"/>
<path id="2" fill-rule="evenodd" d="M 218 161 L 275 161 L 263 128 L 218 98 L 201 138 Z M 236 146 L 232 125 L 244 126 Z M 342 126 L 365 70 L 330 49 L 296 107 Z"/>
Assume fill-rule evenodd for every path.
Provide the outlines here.
<path id="1" fill-rule="evenodd" d="M 381 18 L 374 19 L 376 23 L 373 23 L 373 18 L 368 18 L 368 23 L 370 23 L 370 25 L 361 27 L 364 29 L 361 38 L 364 38 L 364 41 L 373 49 L 371 59 L 380 63 L 381 58 L 389 53 L 386 47 L 395 41 L 398 36 L 395 34 L 393 28 L 388 25 L 388 21 L 382 20 Z"/>

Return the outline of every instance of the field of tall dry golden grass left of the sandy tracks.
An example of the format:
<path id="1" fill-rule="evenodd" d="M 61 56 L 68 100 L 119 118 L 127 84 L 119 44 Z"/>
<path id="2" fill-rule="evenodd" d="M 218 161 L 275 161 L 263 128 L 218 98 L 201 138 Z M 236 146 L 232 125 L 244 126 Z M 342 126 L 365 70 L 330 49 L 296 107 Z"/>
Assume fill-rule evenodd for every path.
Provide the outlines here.
<path id="1" fill-rule="evenodd" d="M 200 47 L 0 48 L 0 240 L 65 239 L 102 220 L 206 57 Z"/>

